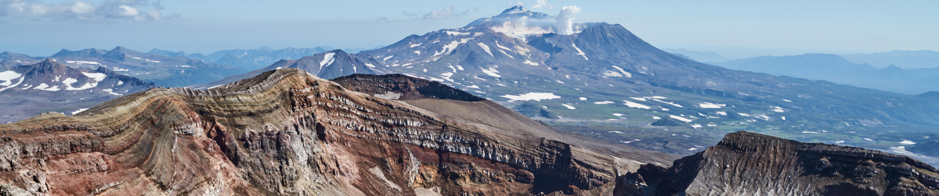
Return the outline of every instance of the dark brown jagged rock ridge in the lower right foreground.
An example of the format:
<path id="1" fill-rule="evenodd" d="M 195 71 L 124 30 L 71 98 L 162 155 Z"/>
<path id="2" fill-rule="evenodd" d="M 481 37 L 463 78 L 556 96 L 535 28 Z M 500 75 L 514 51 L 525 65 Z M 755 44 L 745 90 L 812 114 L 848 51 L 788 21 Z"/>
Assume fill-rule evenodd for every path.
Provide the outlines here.
<path id="1" fill-rule="evenodd" d="M 643 165 L 615 195 L 939 195 L 939 174 L 913 158 L 738 131 L 715 146 Z"/>

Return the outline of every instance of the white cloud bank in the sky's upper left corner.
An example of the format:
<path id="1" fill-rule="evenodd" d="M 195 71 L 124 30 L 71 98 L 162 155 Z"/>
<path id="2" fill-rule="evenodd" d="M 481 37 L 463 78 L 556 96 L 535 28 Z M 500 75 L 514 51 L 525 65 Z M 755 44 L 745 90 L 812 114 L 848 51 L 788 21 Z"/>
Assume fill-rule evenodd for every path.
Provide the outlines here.
<path id="1" fill-rule="evenodd" d="M 144 11 L 150 9 L 148 11 Z M 136 22 L 160 21 L 179 18 L 179 14 L 164 15 L 160 1 L 147 0 L 105 1 L 100 5 L 78 0 L 66 3 L 42 3 L 39 0 L 0 0 L 0 19 L 49 19 L 54 21 L 99 22 L 129 20 Z"/>

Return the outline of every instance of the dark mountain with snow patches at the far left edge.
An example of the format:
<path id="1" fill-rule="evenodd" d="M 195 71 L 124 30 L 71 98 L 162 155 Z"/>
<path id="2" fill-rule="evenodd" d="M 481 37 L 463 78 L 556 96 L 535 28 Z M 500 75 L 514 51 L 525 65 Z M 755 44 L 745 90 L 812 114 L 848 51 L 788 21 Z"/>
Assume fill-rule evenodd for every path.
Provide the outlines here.
<path id="1" fill-rule="evenodd" d="M 0 124 L 39 113 L 70 115 L 151 87 L 157 85 L 110 68 L 69 68 L 52 59 L 32 65 L 0 65 Z"/>

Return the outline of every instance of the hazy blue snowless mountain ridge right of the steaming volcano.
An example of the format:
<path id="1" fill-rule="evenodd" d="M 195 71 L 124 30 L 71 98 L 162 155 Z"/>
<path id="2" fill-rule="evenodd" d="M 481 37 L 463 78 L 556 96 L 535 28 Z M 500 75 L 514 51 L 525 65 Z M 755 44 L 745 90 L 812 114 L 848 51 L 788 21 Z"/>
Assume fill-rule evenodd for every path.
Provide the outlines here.
<path id="1" fill-rule="evenodd" d="M 900 68 L 892 65 L 874 68 L 868 64 L 855 64 L 837 54 L 759 56 L 715 65 L 913 95 L 939 91 L 939 68 Z"/>

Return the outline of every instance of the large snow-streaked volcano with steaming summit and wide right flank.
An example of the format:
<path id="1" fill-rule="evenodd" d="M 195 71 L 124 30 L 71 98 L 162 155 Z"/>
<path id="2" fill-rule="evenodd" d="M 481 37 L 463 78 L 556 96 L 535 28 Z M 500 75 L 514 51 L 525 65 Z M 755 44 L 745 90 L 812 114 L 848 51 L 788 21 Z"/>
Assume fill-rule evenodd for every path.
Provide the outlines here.
<path id="1" fill-rule="evenodd" d="M 659 50 L 620 24 L 570 23 L 576 12 L 571 7 L 548 16 L 509 8 L 360 54 L 393 72 L 448 84 L 532 117 L 628 120 L 638 126 L 674 119 L 699 129 L 741 120 L 761 126 L 800 120 L 851 125 L 844 120 L 851 115 L 939 126 L 939 117 L 929 112 L 939 103 L 701 64 Z M 882 110 L 868 104 L 887 97 L 922 107 Z M 683 147 L 674 150 L 691 148 Z"/>

